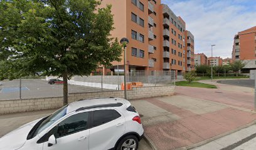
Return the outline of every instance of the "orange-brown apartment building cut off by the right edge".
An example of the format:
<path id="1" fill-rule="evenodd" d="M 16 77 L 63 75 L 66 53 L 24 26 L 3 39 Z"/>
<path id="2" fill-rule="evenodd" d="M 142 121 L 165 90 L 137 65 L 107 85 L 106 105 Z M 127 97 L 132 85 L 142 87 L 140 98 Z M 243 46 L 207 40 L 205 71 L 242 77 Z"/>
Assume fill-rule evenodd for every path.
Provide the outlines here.
<path id="1" fill-rule="evenodd" d="M 250 69 L 256 69 L 256 26 L 235 35 L 232 60 L 244 61 L 243 73 L 249 73 Z"/>

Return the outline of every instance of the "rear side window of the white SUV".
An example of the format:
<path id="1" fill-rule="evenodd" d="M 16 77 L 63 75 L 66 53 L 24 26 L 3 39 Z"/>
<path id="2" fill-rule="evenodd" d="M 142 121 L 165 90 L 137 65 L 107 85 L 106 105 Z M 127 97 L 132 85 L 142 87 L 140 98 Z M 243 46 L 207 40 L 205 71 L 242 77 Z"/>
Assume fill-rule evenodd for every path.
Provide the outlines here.
<path id="1" fill-rule="evenodd" d="M 97 110 L 93 111 L 93 114 L 93 127 L 109 123 L 121 116 L 113 109 Z"/>

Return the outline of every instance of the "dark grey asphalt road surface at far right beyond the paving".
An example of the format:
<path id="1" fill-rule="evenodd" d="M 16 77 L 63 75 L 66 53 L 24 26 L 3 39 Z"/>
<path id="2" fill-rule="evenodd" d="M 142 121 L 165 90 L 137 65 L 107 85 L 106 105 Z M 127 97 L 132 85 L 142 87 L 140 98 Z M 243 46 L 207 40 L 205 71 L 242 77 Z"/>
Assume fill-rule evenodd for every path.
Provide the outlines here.
<path id="1" fill-rule="evenodd" d="M 245 87 L 249 87 L 249 88 L 255 87 L 255 81 L 253 79 L 221 80 L 221 81 L 217 81 L 217 83 L 229 84 L 229 85 L 233 85 L 233 86 L 245 86 Z"/>

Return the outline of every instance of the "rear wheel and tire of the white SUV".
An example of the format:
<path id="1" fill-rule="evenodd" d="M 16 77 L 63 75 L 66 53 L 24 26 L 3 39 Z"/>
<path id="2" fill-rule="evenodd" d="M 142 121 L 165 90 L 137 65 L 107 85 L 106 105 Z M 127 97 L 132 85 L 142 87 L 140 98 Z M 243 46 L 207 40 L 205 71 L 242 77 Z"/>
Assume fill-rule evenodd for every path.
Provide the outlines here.
<path id="1" fill-rule="evenodd" d="M 139 140 L 134 135 L 125 136 L 117 144 L 115 150 L 122 150 L 124 148 L 130 148 L 131 150 L 137 150 L 139 147 Z"/>

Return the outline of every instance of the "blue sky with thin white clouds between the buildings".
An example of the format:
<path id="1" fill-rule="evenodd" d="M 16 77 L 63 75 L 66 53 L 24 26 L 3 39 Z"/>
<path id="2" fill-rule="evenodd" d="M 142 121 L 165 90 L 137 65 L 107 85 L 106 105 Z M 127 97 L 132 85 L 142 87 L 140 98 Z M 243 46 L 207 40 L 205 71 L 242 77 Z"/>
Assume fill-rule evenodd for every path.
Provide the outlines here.
<path id="1" fill-rule="evenodd" d="M 256 26 L 256 0 L 161 0 L 195 36 L 195 53 L 231 58 L 233 37 Z"/>

